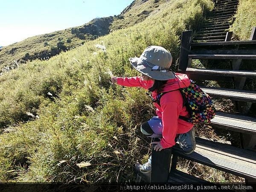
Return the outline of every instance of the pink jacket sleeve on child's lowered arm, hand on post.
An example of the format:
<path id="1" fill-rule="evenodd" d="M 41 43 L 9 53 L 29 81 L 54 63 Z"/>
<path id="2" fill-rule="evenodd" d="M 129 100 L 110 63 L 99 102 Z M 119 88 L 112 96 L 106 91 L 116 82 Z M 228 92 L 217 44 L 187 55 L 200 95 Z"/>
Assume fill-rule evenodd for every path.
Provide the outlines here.
<path id="1" fill-rule="evenodd" d="M 169 148 L 175 145 L 175 137 L 178 129 L 179 109 L 177 102 L 161 103 L 163 138 L 160 143 L 163 148 Z"/>

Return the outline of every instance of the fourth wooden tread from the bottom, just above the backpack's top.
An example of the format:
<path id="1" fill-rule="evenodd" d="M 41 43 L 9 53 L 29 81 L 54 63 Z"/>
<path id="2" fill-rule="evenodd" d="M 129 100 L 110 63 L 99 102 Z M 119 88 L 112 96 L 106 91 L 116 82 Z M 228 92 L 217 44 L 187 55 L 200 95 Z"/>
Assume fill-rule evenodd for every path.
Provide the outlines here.
<path id="1" fill-rule="evenodd" d="M 256 71 L 195 69 L 189 67 L 186 69 L 186 74 L 195 74 L 196 76 L 200 76 L 200 79 L 201 75 L 256 78 Z"/>

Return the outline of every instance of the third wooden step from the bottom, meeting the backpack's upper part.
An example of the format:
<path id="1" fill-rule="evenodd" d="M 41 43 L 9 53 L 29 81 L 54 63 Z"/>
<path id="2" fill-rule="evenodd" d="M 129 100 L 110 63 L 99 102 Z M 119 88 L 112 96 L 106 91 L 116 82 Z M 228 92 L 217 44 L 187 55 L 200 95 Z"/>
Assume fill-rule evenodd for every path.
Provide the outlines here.
<path id="1" fill-rule="evenodd" d="M 218 87 L 201 87 L 209 96 L 215 98 L 231 99 L 235 101 L 256 102 L 256 91 L 227 89 Z"/>

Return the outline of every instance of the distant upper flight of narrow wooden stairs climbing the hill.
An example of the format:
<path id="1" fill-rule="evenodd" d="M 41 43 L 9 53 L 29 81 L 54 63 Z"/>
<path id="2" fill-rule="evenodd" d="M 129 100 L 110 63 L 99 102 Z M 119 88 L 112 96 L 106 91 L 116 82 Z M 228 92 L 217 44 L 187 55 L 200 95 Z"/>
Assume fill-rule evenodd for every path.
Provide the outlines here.
<path id="1" fill-rule="evenodd" d="M 239 0 L 215 0 L 215 6 L 206 23 L 200 31 L 196 32 L 192 42 L 225 41 L 227 29 L 233 23 Z M 232 34 L 229 34 L 231 37 Z"/>

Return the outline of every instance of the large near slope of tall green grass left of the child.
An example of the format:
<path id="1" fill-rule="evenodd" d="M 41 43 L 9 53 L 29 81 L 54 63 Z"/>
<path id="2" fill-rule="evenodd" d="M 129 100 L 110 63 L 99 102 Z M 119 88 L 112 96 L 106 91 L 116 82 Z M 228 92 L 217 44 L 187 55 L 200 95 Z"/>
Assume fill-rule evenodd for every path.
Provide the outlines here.
<path id="1" fill-rule="evenodd" d="M 154 108 L 145 90 L 113 85 L 111 74 L 138 75 L 128 58 L 149 45 L 168 49 L 177 68 L 182 31 L 212 8 L 170 0 L 141 23 L 0 76 L 0 181 L 134 181 L 134 163 L 150 152 L 139 126 Z"/>

